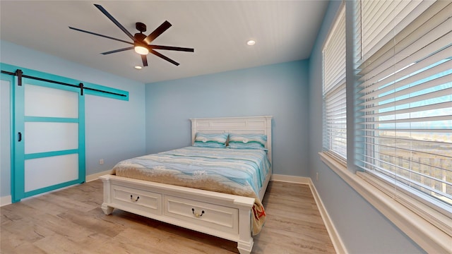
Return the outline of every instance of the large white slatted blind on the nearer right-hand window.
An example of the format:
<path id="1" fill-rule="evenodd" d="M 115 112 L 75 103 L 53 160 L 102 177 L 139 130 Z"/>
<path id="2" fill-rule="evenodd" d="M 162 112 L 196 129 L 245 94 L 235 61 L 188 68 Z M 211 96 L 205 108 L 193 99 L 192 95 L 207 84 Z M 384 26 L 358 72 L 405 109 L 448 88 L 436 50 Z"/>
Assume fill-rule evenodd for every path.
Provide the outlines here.
<path id="1" fill-rule="evenodd" d="M 450 217 L 451 1 L 359 4 L 357 166 Z"/>

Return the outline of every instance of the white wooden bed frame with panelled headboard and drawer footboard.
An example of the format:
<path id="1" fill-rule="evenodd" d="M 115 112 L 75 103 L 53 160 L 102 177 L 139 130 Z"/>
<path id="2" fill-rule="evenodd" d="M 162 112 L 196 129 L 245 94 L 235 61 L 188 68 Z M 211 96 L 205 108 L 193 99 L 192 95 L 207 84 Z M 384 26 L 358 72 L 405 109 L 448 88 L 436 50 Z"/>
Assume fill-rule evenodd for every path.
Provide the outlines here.
<path id="1" fill-rule="evenodd" d="M 271 162 L 272 116 L 204 118 L 191 120 L 191 137 L 203 133 L 260 133 L 267 135 L 266 148 Z M 263 199 L 270 173 L 259 197 Z M 237 242 L 241 254 L 251 253 L 251 207 L 254 198 L 172 186 L 121 176 L 100 176 L 104 184 L 102 210 L 111 214 L 114 208 L 144 217 L 200 231 Z"/>

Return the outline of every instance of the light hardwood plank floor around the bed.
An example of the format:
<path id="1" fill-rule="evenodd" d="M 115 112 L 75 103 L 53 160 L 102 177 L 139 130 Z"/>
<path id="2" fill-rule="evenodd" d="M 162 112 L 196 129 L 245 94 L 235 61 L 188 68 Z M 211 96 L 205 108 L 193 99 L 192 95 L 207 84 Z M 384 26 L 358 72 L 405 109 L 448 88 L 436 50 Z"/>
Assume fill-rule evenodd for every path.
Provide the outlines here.
<path id="1" fill-rule="evenodd" d="M 105 215 L 96 180 L 1 207 L 0 253 L 238 253 L 237 243 L 129 212 Z M 273 181 L 253 253 L 335 253 L 309 186 Z"/>

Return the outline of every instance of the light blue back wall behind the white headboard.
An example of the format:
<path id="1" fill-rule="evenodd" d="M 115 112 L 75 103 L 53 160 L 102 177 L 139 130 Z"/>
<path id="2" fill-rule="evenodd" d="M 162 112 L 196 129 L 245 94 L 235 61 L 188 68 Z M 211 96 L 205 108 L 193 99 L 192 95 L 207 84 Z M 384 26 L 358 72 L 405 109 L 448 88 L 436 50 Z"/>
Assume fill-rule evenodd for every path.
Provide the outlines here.
<path id="1" fill-rule="evenodd" d="M 190 118 L 272 115 L 273 173 L 308 176 L 307 69 L 294 61 L 147 84 L 147 152 L 191 145 Z"/>

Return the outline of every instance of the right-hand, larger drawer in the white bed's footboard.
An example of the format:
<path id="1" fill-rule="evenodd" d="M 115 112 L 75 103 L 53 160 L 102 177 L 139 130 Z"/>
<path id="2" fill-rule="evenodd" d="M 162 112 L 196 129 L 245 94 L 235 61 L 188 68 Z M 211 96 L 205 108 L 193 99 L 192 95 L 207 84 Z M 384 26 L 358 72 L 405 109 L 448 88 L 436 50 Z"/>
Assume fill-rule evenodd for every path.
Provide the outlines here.
<path id="1" fill-rule="evenodd" d="M 164 195 L 163 214 L 223 233 L 238 234 L 239 210 L 208 202 Z"/>

